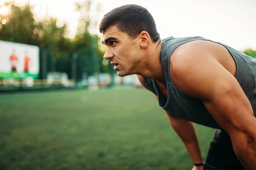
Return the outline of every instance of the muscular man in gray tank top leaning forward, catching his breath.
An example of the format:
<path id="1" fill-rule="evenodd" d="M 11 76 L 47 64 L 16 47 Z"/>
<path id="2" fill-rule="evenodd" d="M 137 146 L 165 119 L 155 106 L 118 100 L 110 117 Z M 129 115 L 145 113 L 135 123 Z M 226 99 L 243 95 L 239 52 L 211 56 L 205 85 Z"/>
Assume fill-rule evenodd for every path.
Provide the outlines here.
<path id="1" fill-rule="evenodd" d="M 152 91 L 196 169 L 203 160 L 192 122 L 216 128 L 205 167 L 256 169 L 256 60 L 203 37 L 160 40 L 153 17 L 137 5 L 114 8 L 99 31 L 121 77 L 137 74 Z"/>

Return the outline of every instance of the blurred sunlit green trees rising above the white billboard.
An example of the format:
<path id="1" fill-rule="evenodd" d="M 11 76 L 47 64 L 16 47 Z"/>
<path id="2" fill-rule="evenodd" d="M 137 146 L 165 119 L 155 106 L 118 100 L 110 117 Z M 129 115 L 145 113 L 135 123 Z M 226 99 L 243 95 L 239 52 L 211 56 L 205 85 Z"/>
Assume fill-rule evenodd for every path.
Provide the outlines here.
<path id="1" fill-rule="evenodd" d="M 49 18 L 44 21 L 36 21 L 32 13 L 33 6 L 29 3 L 25 6 L 15 6 L 13 1 L 3 5 L 9 9 L 9 13 L 0 14 L 0 40 L 20 42 L 30 45 L 38 45 L 43 48 L 71 52 L 73 46 L 71 40 L 65 37 L 67 25 L 57 26 L 57 19 Z"/>

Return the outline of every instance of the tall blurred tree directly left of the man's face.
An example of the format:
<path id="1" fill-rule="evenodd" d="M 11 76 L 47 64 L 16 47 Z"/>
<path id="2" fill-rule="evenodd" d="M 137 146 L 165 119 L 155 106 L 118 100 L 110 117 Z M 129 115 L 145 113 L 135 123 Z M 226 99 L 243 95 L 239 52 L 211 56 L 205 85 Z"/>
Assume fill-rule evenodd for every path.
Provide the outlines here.
<path id="1" fill-rule="evenodd" d="M 76 11 L 80 14 L 79 25 L 77 33 L 74 38 L 74 50 L 78 51 L 78 60 L 80 62 L 77 71 L 79 75 L 86 72 L 91 75 L 99 72 L 102 67 L 104 52 L 99 49 L 100 38 L 97 35 L 90 34 L 90 30 L 98 30 L 97 20 L 92 17 L 92 13 L 97 15 L 100 10 L 100 3 L 94 3 L 93 0 L 84 0 L 83 2 L 76 2 Z M 96 9 L 93 10 L 93 4 Z M 93 11 L 93 12 L 92 12 Z"/>

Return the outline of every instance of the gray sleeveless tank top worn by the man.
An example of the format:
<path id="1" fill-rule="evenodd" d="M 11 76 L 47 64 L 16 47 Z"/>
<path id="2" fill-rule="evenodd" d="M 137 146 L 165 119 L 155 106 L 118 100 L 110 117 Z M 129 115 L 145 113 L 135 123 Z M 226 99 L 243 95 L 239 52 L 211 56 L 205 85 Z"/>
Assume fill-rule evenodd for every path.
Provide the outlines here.
<path id="1" fill-rule="evenodd" d="M 160 59 L 162 62 L 163 70 L 165 73 L 168 99 L 158 91 L 157 85 L 154 79 L 148 79 L 144 77 L 145 85 L 158 96 L 158 102 L 160 108 L 169 111 L 174 116 L 186 119 L 188 121 L 204 125 L 207 127 L 221 129 L 221 126 L 213 119 L 212 115 L 205 108 L 201 100 L 189 97 L 180 92 L 172 82 L 170 75 L 170 57 L 173 51 L 182 45 L 183 43 L 194 40 L 207 40 L 203 37 L 186 37 L 186 38 L 174 38 L 169 37 L 163 40 L 162 48 L 160 52 Z M 212 41 L 212 40 L 207 40 Z M 214 42 L 214 41 L 212 41 Z M 253 107 L 253 114 L 256 116 L 256 59 L 253 59 L 246 54 L 235 50 L 234 48 L 224 45 L 220 42 L 216 42 L 223 45 L 232 55 L 236 62 L 236 75 L 241 88 L 246 94 L 247 98 Z M 189 75 L 188 75 L 189 76 Z"/>

